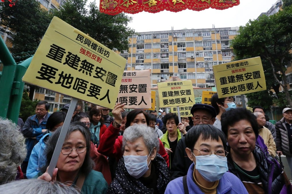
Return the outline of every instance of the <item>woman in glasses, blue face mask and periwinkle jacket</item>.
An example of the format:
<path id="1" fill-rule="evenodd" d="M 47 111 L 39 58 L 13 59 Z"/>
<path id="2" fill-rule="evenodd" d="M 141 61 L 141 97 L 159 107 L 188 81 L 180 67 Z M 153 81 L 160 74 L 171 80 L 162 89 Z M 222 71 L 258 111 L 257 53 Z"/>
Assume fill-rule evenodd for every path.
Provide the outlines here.
<path id="1" fill-rule="evenodd" d="M 226 172 L 226 139 L 209 124 L 195 125 L 185 136 L 187 156 L 193 162 L 187 175 L 169 182 L 168 193 L 247 193 L 242 182 Z"/>

